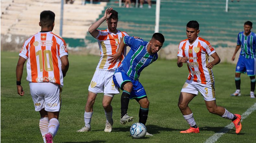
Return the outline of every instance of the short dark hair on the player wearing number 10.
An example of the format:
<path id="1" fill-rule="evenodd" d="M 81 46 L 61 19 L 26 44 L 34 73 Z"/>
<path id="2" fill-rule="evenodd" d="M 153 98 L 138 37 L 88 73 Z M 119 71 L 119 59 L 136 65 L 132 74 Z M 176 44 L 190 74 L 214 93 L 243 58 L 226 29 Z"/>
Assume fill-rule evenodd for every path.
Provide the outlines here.
<path id="1" fill-rule="evenodd" d="M 40 14 L 40 23 L 42 27 L 50 27 L 55 20 L 55 14 L 50 10 L 42 11 Z"/>

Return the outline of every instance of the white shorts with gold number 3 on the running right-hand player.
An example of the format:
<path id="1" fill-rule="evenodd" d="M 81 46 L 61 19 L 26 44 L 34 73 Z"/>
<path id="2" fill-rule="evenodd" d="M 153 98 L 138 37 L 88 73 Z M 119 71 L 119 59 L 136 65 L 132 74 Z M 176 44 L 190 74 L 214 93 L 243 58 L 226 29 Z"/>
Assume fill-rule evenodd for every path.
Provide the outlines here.
<path id="1" fill-rule="evenodd" d="M 214 83 L 211 85 L 206 85 L 194 81 L 187 80 L 180 92 L 186 92 L 191 94 L 198 94 L 198 91 L 204 96 L 205 101 L 215 100 L 215 87 Z"/>

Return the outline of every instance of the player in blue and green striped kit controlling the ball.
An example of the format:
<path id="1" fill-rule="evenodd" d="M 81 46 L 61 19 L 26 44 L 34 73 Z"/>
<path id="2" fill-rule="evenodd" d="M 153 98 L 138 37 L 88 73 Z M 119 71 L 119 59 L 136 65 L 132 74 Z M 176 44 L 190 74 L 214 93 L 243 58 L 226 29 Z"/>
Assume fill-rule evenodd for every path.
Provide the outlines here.
<path id="1" fill-rule="evenodd" d="M 131 47 L 121 65 L 115 70 L 113 81 L 121 90 L 121 124 L 130 122 L 134 117 L 127 115 L 130 99 L 135 99 L 140 104 L 139 122 L 146 124 L 149 101 L 144 87 L 139 82 L 141 71 L 158 58 L 157 52 L 164 43 L 164 36 L 161 33 L 154 33 L 150 42 L 134 37 L 124 36 L 119 44 L 117 54 L 122 52 L 125 45 Z M 151 134 L 147 133 L 146 135 Z"/>

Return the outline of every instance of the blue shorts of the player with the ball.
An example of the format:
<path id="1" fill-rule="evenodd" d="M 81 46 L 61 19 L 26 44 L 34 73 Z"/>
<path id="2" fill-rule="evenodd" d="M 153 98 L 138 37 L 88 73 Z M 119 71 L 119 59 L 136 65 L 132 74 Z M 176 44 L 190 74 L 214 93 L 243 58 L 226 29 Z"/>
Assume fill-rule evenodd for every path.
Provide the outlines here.
<path id="1" fill-rule="evenodd" d="M 135 80 L 131 79 L 126 74 L 126 72 L 123 72 L 123 71 L 115 72 L 115 74 L 113 75 L 113 81 L 114 81 L 115 85 L 118 86 L 121 90 L 123 90 L 123 86 L 127 82 L 133 83 L 133 90 L 131 92 L 130 99 L 142 98 L 142 97 L 147 96 L 146 91 L 145 91 L 144 87 L 142 86 L 142 84 L 139 81 L 135 81 Z"/>

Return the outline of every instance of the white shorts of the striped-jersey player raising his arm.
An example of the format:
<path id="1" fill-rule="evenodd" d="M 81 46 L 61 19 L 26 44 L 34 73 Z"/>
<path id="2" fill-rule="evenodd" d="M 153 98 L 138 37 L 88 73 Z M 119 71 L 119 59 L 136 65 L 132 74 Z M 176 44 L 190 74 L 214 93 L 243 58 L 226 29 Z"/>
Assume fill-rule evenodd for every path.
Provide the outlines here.
<path id="1" fill-rule="evenodd" d="M 119 94 L 119 88 L 115 86 L 113 82 L 114 73 L 115 70 L 96 70 L 92 77 L 88 91 L 96 94 L 104 93 L 108 96 L 111 94 Z"/>

